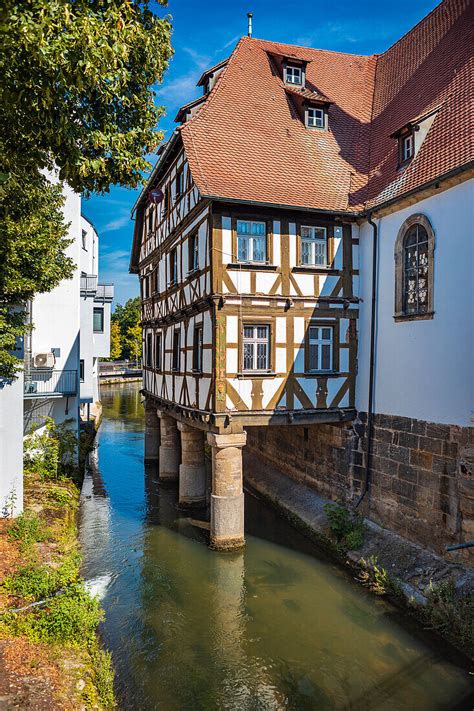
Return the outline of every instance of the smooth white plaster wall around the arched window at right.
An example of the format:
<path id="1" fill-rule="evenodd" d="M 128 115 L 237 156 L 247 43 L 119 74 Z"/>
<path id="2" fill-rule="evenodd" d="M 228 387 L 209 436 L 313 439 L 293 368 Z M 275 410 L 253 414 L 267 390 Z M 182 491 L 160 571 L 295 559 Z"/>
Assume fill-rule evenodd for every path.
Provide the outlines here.
<path id="1" fill-rule="evenodd" d="M 473 204 L 466 181 L 379 221 L 379 280 L 374 411 L 444 424 L 472 425 Z M 434 318 L 395 323 L 394 246 L 412 214 L 435 233 Z M 361 297 L 356 405 L 367 410 L 372 228 L 360 229 Z"/>

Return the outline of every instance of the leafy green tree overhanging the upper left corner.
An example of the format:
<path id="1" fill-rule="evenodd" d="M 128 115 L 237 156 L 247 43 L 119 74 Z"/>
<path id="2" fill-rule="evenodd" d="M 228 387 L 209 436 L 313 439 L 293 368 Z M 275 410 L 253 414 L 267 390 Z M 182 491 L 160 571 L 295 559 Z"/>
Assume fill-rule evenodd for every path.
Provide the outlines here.
<path id="1" fill-rule="evenodd" d="M 164 0 L 159 0 L 164 5 Z M 4 0 L 0 9 L 0 376 L 22 306 L 71 277 L 62 182 L 137 187 L 163 135 L 171 25 L 147 0 Z M 55 174 L 58 185 L 44 174 Z"/>

